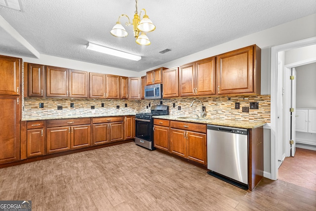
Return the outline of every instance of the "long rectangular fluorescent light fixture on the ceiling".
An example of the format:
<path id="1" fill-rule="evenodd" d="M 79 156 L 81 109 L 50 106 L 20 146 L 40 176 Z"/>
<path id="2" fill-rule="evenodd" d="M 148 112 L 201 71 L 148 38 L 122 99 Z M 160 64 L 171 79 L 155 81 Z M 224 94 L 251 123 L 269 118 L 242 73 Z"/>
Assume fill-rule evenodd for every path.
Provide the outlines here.
<path id="1" fill-rule="evenodd" d="M 142 59 L 141 56 L 137 56 L 137 55 L 126 53 L 126 52 L 119 51 L 119 50 L 115 50 L 115 49 L 108 48 L 108 47 L 105 47 L 105 46 L 102 46 L 102 45 L 98 45 L 98 44 L 94 44 L 94 43 L 91 43 L 91 42 L 88 42 L 87 49 L 98 51 L 98 52 L 101 52 L 101 53 L 110 54 L 110 55 L 113 55 L 113 56 L 118 56 L 118 57 L 125 58 L 125 59 L 134 60 L 134 61 L 138 61 L 138 60 Z"/>

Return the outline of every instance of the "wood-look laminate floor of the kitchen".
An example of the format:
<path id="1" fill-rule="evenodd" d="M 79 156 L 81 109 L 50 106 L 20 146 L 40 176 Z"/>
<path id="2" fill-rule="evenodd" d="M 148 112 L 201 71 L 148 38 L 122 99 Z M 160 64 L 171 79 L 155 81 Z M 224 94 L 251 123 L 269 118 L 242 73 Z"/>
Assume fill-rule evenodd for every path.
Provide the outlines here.
<path id="1" fill-rule="evenodd" d="M 244 191 L 134 142 L 0 169 L 0 200 L 33 211 L 315 211 L 316 191 L 264 178 Z"/>

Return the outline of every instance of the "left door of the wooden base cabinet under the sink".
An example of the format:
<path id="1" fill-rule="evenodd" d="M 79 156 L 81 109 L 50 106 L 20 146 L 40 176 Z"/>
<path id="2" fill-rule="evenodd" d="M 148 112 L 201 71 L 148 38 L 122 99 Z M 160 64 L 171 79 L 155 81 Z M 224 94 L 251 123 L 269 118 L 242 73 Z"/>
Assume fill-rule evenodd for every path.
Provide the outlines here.
<path id="1" fill-rule="evenodd" d="M 170 129 L 170 153 L 187 157 L 186 131 L 181 129 Z"/>

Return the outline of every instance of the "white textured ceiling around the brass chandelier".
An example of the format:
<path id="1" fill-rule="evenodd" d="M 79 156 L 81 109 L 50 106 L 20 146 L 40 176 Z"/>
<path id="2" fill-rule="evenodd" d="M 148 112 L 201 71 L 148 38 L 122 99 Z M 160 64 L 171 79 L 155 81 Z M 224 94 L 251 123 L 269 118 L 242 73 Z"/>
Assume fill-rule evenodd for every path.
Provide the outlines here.
<path id="1" fill-rule="evenodd" d="M 133 17 L 134 0 L 22 0 L 22 5 L 24 12 L 0 6 L 0 15 L 40 54 L 138 72 L 316 13 L 316 0 L 138 0 L 138 11 L 145 8 L 157 27 L 147 34 L 152 44 L 141 46 L 131 26 L 125 27 L 126 38 L 110 34 L 120 14 Z M 87 50 L 88 42 L 142 59 Z M 172 51 L 159 53 L 165 48 Z M 35 57 L 1 28 L 0 53 Z"/>

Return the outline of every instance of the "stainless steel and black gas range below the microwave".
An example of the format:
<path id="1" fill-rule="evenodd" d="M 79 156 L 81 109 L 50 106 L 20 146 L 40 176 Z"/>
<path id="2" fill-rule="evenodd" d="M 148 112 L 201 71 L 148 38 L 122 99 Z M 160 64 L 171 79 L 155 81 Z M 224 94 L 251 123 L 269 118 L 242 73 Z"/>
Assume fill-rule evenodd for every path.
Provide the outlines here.
<path id="1" fill-rule="evenodd" d="M 135 116 L 135 143 L 139 146 L 154 150 L 154 120 L 153 116 L 168 115 L 167 105 L 154 105 L 151 113 L 139 113 Z"/>

